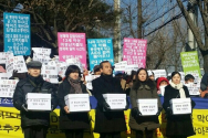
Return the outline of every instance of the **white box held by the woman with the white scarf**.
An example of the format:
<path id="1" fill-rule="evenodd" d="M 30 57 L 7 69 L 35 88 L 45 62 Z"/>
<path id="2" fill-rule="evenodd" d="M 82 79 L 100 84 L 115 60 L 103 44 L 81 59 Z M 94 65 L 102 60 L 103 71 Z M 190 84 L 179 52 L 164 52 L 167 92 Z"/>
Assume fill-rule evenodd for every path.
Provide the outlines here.
<path id="1" fill-rule="evenodd" d="M 173 98 L 170 103 L 170 108 L 174 115 L 180 114 L 191 114 L 190 98 Z"/>

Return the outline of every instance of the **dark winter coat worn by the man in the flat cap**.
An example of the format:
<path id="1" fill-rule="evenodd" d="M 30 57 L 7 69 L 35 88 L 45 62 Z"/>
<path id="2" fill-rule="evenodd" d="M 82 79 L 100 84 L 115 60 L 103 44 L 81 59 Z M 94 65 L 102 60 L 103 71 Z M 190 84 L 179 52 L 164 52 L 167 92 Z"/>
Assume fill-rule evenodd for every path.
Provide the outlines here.
<path id="1" fill-rule="evenodd" d="M 13 106 L 20 110 L 21 127 L 29 126 L 50 126 L 50 113 L 49 112 L 25 112 L 22 105 L 25 104 L 25 95 L 33 93 L 35 87 L 30 83 L 29 78 L 18 82 L 13 94 Z M 43 81 L 41 86 L 41 93 L 51 94 L 52 110 L 58 106 L 56 88 L 53 84 Z M 46 91 L 45 91 L 46 89 Z"/>

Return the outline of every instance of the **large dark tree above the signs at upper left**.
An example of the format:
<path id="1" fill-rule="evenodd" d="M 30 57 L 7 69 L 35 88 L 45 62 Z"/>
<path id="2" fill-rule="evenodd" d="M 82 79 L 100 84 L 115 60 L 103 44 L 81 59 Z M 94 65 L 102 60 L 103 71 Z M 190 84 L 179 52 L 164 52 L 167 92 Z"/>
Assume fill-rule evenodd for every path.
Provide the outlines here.
<path id="1" fill-rule="evenodd" d="M 103 0 L 20 0 L 19 13 L 31 14 L 32 33 L 50 47 L 58 50 L 58 32 L 86 32 L 89 35 L 100 25 L 111 28 L 113 8 Z M 0 0 L 0 13 L 13 11 L 12 0 Z M 32 38 L 33 39 L 33 38 Z"/>

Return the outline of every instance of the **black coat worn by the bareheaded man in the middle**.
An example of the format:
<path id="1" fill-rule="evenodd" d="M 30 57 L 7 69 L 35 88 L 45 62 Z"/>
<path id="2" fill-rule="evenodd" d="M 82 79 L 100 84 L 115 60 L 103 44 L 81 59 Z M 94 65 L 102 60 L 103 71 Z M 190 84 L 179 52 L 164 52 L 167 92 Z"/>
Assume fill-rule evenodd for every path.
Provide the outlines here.
<path id="1" fill-rule="evenodd" d="M 103 103 L 105 102 L 103 94 L 124 94 L 121 82 L 113 78 L 107 82 L 103 75 L 92 82 L 93 94 L 97 99 L 95 114 L 95 132 L 114 132 L 125 131 L 126 123 L 124 112 L 103 112 Z"/>

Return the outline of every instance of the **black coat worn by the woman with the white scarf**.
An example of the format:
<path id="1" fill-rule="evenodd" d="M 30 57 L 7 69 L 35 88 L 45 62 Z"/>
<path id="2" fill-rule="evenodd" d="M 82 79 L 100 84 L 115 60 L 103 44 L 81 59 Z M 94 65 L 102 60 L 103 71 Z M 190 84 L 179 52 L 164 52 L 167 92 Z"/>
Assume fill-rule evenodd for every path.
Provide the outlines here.
<path id="1" fill-rule="evenodd" d="M 186 97 L 189 96 L 188 88 L 186 86 L 183 87 L 186 94 Z M 189 137 L 195 135 L 193 128 L 193 118 L 191 115 L 170 115 L 167 108 L 170 107 L 169 100 L 171 98 L 180 98 L 179 91 L 175 89 L 170 85 L 165 87 L 165 95 L 164 95 L 164 104 L 163 107 L 166 110 L 167 117 L 167 126 L 166 126 L 166 136 L 185 136 Z M 195 107 L 195 102 L 191 100 L 193 108 Z"/>

